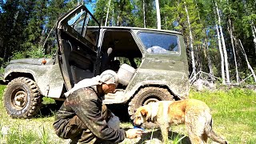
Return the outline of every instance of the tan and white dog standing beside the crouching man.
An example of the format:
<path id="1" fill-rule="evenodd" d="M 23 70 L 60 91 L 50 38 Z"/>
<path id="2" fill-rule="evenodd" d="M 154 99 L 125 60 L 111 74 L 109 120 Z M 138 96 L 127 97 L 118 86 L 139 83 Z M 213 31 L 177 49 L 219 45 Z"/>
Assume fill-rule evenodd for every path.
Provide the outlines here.
<path id="1" fill-rule="evenodd" d="M 207 143 L 207 138 L 227 143 L 212 130 L 210 108 L 199 100 L 153 102 L 139 107 L 133 118 L 135 126 L 141 126 L 144 122 L 156 122 L 160 126 L 165 143 L 168 142 L 170 126 L 184 123 L 193 144 Z"/>

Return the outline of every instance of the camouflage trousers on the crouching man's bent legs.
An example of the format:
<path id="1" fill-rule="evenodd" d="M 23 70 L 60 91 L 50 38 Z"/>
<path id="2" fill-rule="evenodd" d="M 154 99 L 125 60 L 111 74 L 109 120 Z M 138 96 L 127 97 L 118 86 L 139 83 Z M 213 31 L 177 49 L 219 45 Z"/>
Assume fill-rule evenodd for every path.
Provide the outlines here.
<path id="1" fill-rule="evenodd" d="M 110 118 L 110 110 L 107 110 L 106 105 L 102 105 L 102 116 L 108 122 Z M 59 136 L 64 139 L 70 138 L 70 143 L 106 143 L 102 142 L 99 138 L 97 138 L 87 127 L 86 124 L 83 123 L 77 115 L 73 118 L 66 119 L 66 122 L 62 122 L 62 126 L 58 128 L 56 134 L 60 134 Z"/>

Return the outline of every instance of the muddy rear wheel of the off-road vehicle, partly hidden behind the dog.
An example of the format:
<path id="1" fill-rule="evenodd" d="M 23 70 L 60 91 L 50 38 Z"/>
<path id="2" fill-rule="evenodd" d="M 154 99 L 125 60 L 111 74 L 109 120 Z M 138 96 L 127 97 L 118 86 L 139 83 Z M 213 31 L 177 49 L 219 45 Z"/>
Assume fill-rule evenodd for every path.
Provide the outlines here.
<path id="1" fill-rule="evenodd" d="M 174 101 L 174 97 L 170 92 L 160 87 L 146 87 L 138 91 L 134 98 L 129 102 L 128 113 L 132 116 L 139 106 L 144 106 L 150 102 L 158 101 Z M 156 128 L 156 124 L 152 122 L 146 122 L 144 124 L 146 128 Z"/>

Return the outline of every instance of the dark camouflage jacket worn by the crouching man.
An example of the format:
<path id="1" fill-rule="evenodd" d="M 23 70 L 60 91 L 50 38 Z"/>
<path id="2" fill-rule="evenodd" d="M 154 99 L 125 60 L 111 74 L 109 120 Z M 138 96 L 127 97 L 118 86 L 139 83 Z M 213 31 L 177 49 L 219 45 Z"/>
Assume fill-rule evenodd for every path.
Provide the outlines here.
<path id="1" fill-rule="evenodd" d="M 97 138 L 103 141 L 122 142 L 125 138 L 125 130 L 114 130 L 108 127 L 106 120 L 102 116 L 103 96 L 104 94 L 98 94 L 96 88 L 92 87 L 74 91 L 66 98 L 66 101 L 58 110 L 54 128 L 56 129 L 56 127 L 60 127 L 63 124 L 66 125 L 70 118 L 77 115 Z"/>

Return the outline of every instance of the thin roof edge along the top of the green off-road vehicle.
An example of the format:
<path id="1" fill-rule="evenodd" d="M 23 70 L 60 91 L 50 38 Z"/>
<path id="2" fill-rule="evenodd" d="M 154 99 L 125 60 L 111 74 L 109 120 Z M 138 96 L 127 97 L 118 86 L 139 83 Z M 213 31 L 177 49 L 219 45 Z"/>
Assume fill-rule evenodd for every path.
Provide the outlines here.
<path id="1" fill-rule="evenodd" d="M 91 28 L 96 28 L 98 26 L 88 26 Z M 130 27 L 130 26 L 101 26 L 102 29 L 122 29 L 122 30 L 150 30 L 150 31 L 160 31 L 160 32 L 166 32 L 166 33 L 174 33 L 174 34 L 182 34 L 178 31 L 174 30 L 158 30 L 158 29 L 149 29 L 149 28 L 142 28 L 142 27 Z"/>

